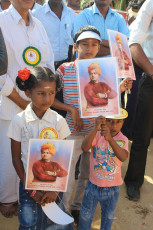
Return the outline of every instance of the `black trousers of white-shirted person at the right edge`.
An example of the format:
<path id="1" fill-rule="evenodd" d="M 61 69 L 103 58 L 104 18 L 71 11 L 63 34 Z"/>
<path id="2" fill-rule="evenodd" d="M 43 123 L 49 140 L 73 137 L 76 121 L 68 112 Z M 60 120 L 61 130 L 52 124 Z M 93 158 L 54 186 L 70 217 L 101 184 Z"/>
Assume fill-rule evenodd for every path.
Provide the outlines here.
<path id="1" fill-rule="evenodd" d="M 130 161 L 125 176 L 127 185 L 141 187 L 144 182 L 147 151 L 153 130 L 153 80 L 143 74 L 138 91 L 138 106 Z"/>

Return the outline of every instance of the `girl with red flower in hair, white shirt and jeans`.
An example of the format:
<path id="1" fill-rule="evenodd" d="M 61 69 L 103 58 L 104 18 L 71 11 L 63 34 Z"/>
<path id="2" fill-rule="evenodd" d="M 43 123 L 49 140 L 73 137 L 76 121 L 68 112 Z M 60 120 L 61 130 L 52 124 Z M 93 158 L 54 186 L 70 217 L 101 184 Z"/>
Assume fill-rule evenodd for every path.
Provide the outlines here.
<path id="1" fill-rule="evenodd" d="M 65 139 L 70 130 L 65 119 L 50 109 L 60 82 L 57 75 L 46 67 L 34 67 L 18 72 L 17 86 L 31 99 L 27 108 L 11 122 L 8 136 L 11 138 L 12 159 L 20 178 L 18 218 L 20 230 L 58 229 L 43 213 L 41 205 L 54 202 L 57 192 L 29 191 L 24 189 L 30 138 L 43 138 L 52 130 L 52 139 Z M 50 228 L 50 226 L 54 225 Z M 60 226 L 59 229 L 63 229 Z"/>

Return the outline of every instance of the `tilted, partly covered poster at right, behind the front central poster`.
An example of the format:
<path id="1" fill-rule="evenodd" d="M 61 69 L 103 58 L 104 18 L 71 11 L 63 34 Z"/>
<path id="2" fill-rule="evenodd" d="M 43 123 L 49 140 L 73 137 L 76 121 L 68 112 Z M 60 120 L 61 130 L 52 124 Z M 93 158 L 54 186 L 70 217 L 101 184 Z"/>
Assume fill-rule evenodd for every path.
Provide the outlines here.
<path id="1" fill-rule="evenodd" d="M 118 77 L 135 80 L 135 72 L 126 35 L 108 30 L 108 37 L 111 55 L 118 60 Z"/>

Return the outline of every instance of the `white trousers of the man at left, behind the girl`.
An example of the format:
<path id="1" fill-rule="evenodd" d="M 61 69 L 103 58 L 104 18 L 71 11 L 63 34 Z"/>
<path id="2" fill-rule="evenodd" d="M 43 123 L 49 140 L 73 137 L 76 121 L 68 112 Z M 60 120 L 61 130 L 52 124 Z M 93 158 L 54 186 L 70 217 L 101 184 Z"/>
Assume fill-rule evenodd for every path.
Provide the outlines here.
<path id="1" fill-rule="evenodd" d="M 7 137 L 10 121 L 0 120 L 0 202 L 17 201 L 18 177 L 12 164 L 11 141 Z"/>

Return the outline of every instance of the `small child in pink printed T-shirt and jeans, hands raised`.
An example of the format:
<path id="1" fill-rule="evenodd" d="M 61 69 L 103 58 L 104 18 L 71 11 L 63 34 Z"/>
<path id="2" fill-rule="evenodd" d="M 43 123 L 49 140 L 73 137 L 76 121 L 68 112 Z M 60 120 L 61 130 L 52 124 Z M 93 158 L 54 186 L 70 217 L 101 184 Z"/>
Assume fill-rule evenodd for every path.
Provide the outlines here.
<path id="1" fill-rule="evenodd" d="M 128 139 L 121 133 L 128 116 L 121 109 L 120 116 L 109 119 L 97 117 L 95 127 L 82 143 L 90 154 L 90 176 L 82 201 L 79 230 L 90 230 L 98 202 L 101 205 L 101 230 L 111 230 L 114 212 L 122 184 L 121 165 L 128 158 Z"/>

